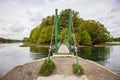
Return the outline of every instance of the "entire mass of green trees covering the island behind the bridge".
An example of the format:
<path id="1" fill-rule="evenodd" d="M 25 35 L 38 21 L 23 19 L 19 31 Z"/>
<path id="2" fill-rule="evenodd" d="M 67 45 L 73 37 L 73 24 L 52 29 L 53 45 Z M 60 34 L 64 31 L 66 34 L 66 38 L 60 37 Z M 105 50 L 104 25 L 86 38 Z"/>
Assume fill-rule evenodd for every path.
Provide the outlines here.
<path id="1" fill-rule="evenodd" d="M 58 35 L 62 41 L 68 38 L 68 15 L 69 9 L 60 12 L 58 21 Z M 94 20 L 84 20 L 79 17 L 77 11 L 72 10 L 72 21 L 76 41 L 79 44 L 100 44 L 110 39 L 110 33 L 103 24 Z M 30 42 L 32 43 L 49 43 L 54 24 L 54 15 L 43 18 L 41 24 L 35 27 L 30 33 Z"/>

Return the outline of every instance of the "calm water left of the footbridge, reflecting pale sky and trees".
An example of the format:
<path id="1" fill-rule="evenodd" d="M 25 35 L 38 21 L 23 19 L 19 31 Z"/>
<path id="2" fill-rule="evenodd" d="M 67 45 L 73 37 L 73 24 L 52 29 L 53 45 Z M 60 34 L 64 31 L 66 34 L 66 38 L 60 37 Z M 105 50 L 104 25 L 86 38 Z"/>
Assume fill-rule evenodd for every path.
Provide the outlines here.
<path id="1" fill-rule="evenodd" d="M 15 66 L 46 57 L 48 49 L 19 47 L 21 43 L 0 44 L 0 76 Z"/>

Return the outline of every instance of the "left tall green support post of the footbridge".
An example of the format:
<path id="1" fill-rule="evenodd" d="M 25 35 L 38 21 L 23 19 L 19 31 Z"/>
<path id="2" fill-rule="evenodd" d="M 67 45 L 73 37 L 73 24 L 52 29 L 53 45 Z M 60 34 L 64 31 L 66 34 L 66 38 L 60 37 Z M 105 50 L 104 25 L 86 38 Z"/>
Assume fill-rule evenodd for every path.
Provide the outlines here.
<path id="1" fill-rule="evenodd" d="M 55 9 L 55 53 L 58 51 L 58 9 Z"/>

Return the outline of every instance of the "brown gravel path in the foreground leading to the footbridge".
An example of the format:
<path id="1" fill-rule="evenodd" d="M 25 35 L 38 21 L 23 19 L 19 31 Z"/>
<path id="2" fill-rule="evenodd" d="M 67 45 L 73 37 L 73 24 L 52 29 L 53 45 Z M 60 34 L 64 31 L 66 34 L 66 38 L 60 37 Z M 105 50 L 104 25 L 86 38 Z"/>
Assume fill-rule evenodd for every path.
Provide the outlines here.
<path id="1" fill-rule="evenodd" d="M 43 60 L 44 59 L 30 62 L 21 66 L 17 66 L 11 71 L 9 71 L 0 80 L 37 80 L 38 79 L 37 73 L 40 65 L 43 63 Z M 75 57 L 52 57 L 52 60 L 56 64 L 56 69 L 53 75 L 74 76 L 77 78 L 81 77 L 74 75 L 72 73 L 72 64 L 76 63 Z M 113 73 L 110 70 L 107 70 L 106 68 L 100 66 L 99 64 L 93 61 L 79 58 L 79 63 L 83 66 L 85 75 L 89 80 L 120 80 L 119 75 Z M 56 77 L 54 76 L 53 78 Z M 47 80 L 47 79 L 41 79 L 41 80 Z M 53 80 L 61 80 L 61 79 L 57 78 Z M 72 78 L 71 80 L 76 80 L 76 79 Z"/>

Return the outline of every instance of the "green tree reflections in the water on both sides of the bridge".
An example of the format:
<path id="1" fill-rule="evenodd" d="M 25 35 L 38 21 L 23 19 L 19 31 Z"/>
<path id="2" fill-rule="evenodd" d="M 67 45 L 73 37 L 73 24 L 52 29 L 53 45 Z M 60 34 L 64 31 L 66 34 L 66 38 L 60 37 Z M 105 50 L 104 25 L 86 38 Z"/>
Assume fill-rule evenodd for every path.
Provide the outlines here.
<path id="1" fill-rule="evenodd" d="M 41 59 L 48 56 L 48 48 L 30 47 L 32 59 Z M 52 54 L 51 54 L 52 55 Z M 84 47 L 78 49 L 78 56 L 93 61 L 104 61 L 110 56 L 110 47 Z"/>

